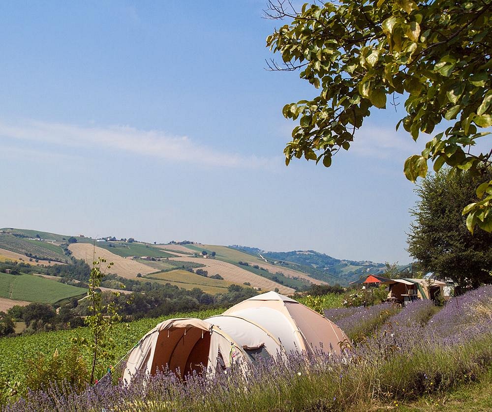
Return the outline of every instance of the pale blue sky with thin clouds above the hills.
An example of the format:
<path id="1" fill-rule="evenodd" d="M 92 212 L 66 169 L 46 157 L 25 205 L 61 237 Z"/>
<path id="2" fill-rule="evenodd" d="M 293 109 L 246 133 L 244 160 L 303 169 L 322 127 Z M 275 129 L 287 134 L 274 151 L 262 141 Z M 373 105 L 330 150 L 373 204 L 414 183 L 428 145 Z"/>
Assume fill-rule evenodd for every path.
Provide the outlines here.
<path id="1" fill-rule="evenodd" d="M 265 6 L 1 2 L 0 227 L 410 262 L 403 105 L 285 167 L 282 107 L 316 90 L 265 69 Z"/>

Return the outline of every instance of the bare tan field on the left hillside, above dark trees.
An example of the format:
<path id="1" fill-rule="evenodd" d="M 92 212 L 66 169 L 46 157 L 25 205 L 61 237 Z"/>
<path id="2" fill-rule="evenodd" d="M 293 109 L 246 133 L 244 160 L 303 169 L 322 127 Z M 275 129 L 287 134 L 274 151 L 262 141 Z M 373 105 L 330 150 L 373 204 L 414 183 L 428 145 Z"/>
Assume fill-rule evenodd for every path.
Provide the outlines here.
<path id="1" fill-rule="evenodd" d="M 75 258 L 82 259 L 89 265 L 92 265 L 94 256 L 96 259 L 106 259 L 107 263 L 113 262 L 114 265 L 110 270 L 107 270 L 107 273 L 116 273 L 117 275 L 128 279 L 136 278 L 137 273 L 146 275 L 148 273 L 155 272 L 155 269 L 151 266 L 144 265 L 143 263 L 136 262 L 131 259 L 125 259 L 122 256 L 115 255 L 109 250 L 97 246 L 94 248 L 94 246 L 90 243 L 72 243 L 69 246 L 69 249 L 72 251 Z M 101 269 L 103 269 L 102 266 Z"/>

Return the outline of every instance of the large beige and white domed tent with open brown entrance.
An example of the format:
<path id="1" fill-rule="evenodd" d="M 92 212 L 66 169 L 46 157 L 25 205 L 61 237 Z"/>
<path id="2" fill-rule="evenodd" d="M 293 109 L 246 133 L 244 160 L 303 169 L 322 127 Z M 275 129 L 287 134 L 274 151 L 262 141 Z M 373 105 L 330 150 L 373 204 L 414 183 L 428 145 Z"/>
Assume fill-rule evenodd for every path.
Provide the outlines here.
<path id="1" fill-rule="evenodd" d="M 123 379 L 159 370 L 213 376 L 218 368 L 239 367 L 259 359 L 285 358 L 289 352 L 339 352 L 348 339 L 333 322 L 301 303 L 275 292 L 238 303 L 222 315 L 170 319 L 149 331 L 129 353 Z"/>

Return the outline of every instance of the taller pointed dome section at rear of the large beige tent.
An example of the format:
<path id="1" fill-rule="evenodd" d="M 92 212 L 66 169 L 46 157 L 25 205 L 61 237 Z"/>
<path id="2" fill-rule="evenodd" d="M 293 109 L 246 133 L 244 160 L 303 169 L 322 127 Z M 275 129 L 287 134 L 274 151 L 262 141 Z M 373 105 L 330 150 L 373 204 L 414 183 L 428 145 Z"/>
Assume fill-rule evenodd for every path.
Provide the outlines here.
<path id="1" fill-rule="evenodd" d="M 307 306 L 275 292 L 253 296 L 226 310 L 268 330 L 287 352 L 339 352 L 347 335 L 333 322 Z"/>

